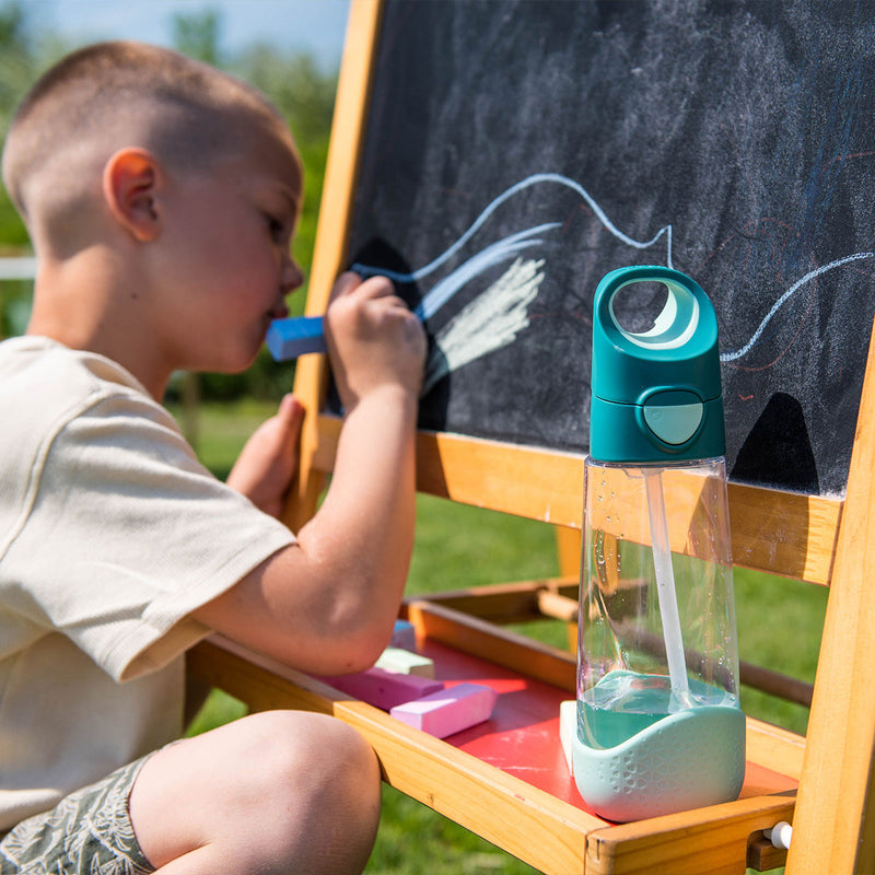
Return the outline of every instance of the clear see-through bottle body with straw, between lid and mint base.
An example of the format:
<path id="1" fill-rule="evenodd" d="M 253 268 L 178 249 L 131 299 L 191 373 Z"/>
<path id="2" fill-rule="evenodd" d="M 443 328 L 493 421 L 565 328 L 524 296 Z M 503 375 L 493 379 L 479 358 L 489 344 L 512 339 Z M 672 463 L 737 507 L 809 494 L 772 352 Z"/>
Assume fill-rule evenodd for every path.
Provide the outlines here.
<path id="1" fill-rule="evenodd" d="M 679 711 L 738 707 L 725 462 L 587 458 L 578 733 L 610 748 Z"/>

